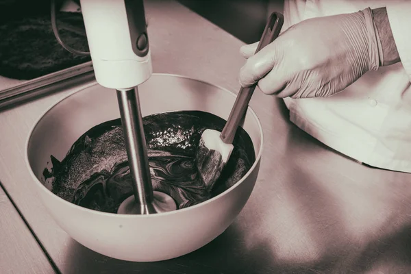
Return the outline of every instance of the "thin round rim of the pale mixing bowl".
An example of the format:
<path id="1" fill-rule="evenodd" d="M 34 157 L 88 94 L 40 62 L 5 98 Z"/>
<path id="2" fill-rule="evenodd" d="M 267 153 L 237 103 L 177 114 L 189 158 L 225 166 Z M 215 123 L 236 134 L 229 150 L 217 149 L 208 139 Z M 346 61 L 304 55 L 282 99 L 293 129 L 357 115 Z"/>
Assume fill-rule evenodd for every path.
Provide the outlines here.
<path id="1" fill-rule="evenodd" d="M 231 95 L 233 97 L 237 96 L 234 92 L 228 90 L 227 88 L 223 88 L 222 86 L 211 84 L 210 82 L 206 82 L 204 80 L 189 77 L 189 76 L 185 76 L 185 75 L 179 75 L 179 74 L 173 74 L 173 73 L 152 73 L 152 76 L 166 76 L 166 77 L 177 77 L 177 78 L 189 79 L 189 80 L 193 80 L 193 81 L 196 81 L 196 82 L 201 82 L 202 84 L 214 86 L 215 88 L 223 90 L 223 92 L 227 92 L 229 95 Z M 212 203 L 216 199 L 221 199 L 221 197 L 227 195 L 229 192 L 232 192 L 235 188 L 237 188 L 240 184 L 242 184 L 242 182 L 245 181 L 245 178 L 248 177 L 254 171 L 254 169 L 256 169 L 256 166 L 260 163 L 261 155 L 262 155 L 262 149 L 263 149 L 263 145 L 264 145 L 264 133 L 263 133 L 263 130 L 262 130 L 262 125 L 261 125 L 260 119 L 258 119 L 258 116 L 257 116 L 256 112 L 254 112 L 254 110 L 249 105 L 247 107 L 247 112 L 250 112 L 253 115 L 253 118 L 256 119 L 258 129 L 259 129 L 259 133 L 260 133 L 260 147 L 258 148 L 258 153 L 257 153 L 257 156 L 256 156 L 256 160 L 251 165 L 251 168 L 249 169 L 249 171 L 247 171 L 247 173 L 245 173 L 245 175 L 243 175 L 241 177 L 241 179 L 238 180 L 238 182 L 236 182 L 233 186 L 231 186 L 227 190 L 221 192 L 219 195 L 216 195 L 216 196 L 212 197 L 211 199 L 208 199 L 208 200 L 203 201 L 201 203 L 197 203 L 194 206 L 189 206 L 188 208 L 182 208 L 180 210 L 173 210 L 173 211 L 169 211 L 169 212 L 160 212 L 160 213 L 157 213 L 157 214 L 147 214 L 147 215 L 117 214 L 117 213 L 110 213 L 110 212 L 101 212 L 101 211 L 97 211 L 97 210 L 91 210 L 89 208 L 84 208 L 82 206 L 78 206 L 78 205 L 75 205 L 74 203 L 66 201 L 66 200 L 62 199 L 61 197 L 58 197 L 58 195 L 55 195 L 53 192 L 51 192 L 51 190 L 49 190 L 44 184 L 42 184 L 40 182 L 40 180 L 34 174 L 34 171 L 32 170 L 32 166 L 29 162 L 29 143 L 30 143 L 30 140 L 32 139 L 32 134 L 34 132 L 34 129 L 36 129 L 36 127 L 38 126 L 38 123 L 40 123 L 40 121 L 43 119 L 43 117 L 47 113 L 49 113 L 53 108 L 57 107 L 60 103 L 62 103 L 62 101 L 64 101 L 64 100 L 68 99 L 69 97 L 77 94 L 77 92 L 80 92 L 82 90 L 85 90 L 86 88 L 90 88 L 91 86 L 96 86 L 96 85 L 99 85 L 99 83 L 96 80 L 93 80 L 89 84 L 85 84 L 84 86 L 80 86 L 79 88 L 75 88 L 75 90 L 73 90 L 73 92 L 70 92 L 68 95 L 66 95 L 66 97 L 63 97 L 62 99 L 59 99 L 57 102 L 53 103 L 49 108 L 47 108 L 45 111 L 43 111 L 42 114 L 40 114 L 38 116 L 38 118 L 36 119 L 34 125 L 30 129 L 29 134 L 26 138 L 26 142 L 25 142 L 25 163 L 26 163 L 27 168 L 29 169 L 30 175 L 34 179 L 35 184 L 40 186 L 40 188 L 38 188 L 38 189 L 41 189 L 42 191 L 46 192 L 47 195 L 53 196 L 54 199 L 55 198 L 60 199 L 62 201 L 62 203 L 66 204 L 66 206 L 69 206 L 71 208 L 76 208 L 77 210 L 82 210 L 84 212 L 90 212 L 90 214 L 97 214 L 97 215 L 108 216 L 108 217 L 112 217 L 112 218 L 161 218 L 162 216 L 166 216 L 166 215 L 179 214 L 178 212 L 188 212 L 190 210 L 195 210 L 196 208 L 199 208 L 201 206 L 206 205 L 206 203 Z M 47 206 L 45 205 L 45 202 L 42 201 L 42 203 L 47 208 Z M 49 211 L 49 208 L 47 208 L 47 210 Z"/>

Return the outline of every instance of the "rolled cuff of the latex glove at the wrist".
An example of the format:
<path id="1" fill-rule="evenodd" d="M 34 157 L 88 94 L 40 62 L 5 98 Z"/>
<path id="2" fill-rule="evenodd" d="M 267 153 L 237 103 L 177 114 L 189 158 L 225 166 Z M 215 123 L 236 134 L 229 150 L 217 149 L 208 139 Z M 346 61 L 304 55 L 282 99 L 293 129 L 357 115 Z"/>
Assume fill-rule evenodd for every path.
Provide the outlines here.
<path id="1" fill-rule="evenodd" d="M 370 70 L 377 71 L 379 66 L 384 64 L 384 55 L 382 53 L 381 40 L 377 32 L 377 27 L 373 19 L 373 11 L 371 8 L 366 8 L 361 11 L 364 14 L 364 23 L 367 29 L 367 38 L 369 40 L 369 60 Z"/>

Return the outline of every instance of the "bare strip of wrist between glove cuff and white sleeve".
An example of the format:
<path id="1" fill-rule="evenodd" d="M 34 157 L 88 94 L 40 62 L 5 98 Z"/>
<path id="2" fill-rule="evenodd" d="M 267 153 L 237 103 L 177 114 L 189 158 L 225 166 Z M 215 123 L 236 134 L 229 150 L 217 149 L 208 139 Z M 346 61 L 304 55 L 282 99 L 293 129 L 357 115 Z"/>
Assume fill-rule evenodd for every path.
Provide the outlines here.
<path id="1" fill-rule="evenodd" d="M 377 8 L 373 10 L 373 19 L 375 27 L 381 42 L 382 54 L 384 57 L 384 64 L 382 66 L 389 66 L 400 62 L 397 46 L 391 31 L 390 22 L 388 21 L 386 8 Z"/>

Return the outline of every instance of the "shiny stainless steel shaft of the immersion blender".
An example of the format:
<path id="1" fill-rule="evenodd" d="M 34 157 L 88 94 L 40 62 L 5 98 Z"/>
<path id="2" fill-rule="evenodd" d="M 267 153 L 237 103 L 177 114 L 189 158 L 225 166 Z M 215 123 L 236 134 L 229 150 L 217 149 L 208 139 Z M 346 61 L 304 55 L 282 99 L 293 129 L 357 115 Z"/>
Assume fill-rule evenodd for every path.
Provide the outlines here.
<path id="1" fill-rule="evenodd" d="M 134 199 L 140 208 L 139 214 L 155 213 L 153 208 L 153 187 L 147 144 L 138 99 L 138 88 L 131 90 L 116 90 L 121 114 L 121 123 L 125 138 L 125 147 L 129 160 L 130 175 L 132 175 Z"/>

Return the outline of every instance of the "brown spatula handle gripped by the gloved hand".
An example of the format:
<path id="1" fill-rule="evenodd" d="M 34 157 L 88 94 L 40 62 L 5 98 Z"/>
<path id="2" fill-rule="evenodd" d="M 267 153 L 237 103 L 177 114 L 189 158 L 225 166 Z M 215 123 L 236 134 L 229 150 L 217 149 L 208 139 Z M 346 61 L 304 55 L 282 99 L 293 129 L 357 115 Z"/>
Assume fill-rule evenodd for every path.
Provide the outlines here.
<path id="1" fill-rule="evenodd" d="M 260 42 L 258 43 L 256 53 L 278 37 L 283 23 L 284 16 L 281 13 L 273 12 L 271 14 L 269 21 L 267 21 L 266 27 L 264 28 L 264 32 L 262 33 Z M 247 111 L 251 96 L 253 95 L 256 86 L 257 84 L 254 84 L 249 88 L 240 88 L 232 111 L 228 116 L 227 123 L 225 123 L 225 127 L 220 135 L 221 140 L 226 144 L 232 144 L 237 127 L 240 125 L 240 121 Z"/>

